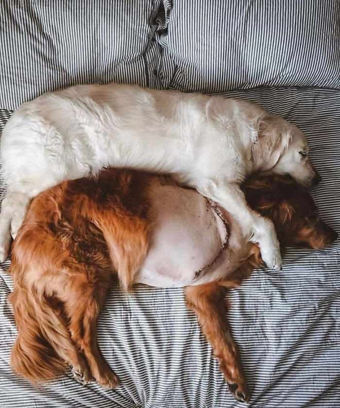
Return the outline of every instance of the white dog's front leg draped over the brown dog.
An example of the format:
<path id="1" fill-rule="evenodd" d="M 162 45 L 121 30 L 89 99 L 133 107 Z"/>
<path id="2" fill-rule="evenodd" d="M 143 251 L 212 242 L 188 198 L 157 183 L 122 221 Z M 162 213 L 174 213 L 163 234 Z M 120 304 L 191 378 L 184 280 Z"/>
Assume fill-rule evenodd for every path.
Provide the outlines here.
<path id="1" fill-rule="evenodd" d="M 258 244 L 262 260 L 269 268 L 282 269 L 280 244 L 272 221 L 248 207 L 238 184 L 209 180 L 197 190 L 219 203 L 235 218 L 243 237 Z"/>

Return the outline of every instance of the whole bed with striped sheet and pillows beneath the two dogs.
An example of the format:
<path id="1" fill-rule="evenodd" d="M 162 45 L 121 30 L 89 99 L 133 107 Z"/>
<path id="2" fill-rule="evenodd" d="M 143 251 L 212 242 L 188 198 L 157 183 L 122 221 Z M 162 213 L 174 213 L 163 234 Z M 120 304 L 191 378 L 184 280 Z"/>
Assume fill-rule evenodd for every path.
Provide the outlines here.
<path id="1" fill-rule="evenodd" d="M 312 196 L 340 232 L 339 1 L 5 0 L 0 81 L 0 131 L 21 103 L 77 83 L 257 102 L 305 132 L 322 176 Z M 283 261 L 283 271 L 256 270 L 227 295 L 250 406 L 339 407 L 340 240 L 325 250 L 288 248 Z M 39 386 L 17 377 L 9 266 L 0 267 L 0 407 L 243 405 L 228 392 L 182 289 L 112 288 L 98 342 L 121 380 L 117 390 L 82 386 L 70 371 Z"/>

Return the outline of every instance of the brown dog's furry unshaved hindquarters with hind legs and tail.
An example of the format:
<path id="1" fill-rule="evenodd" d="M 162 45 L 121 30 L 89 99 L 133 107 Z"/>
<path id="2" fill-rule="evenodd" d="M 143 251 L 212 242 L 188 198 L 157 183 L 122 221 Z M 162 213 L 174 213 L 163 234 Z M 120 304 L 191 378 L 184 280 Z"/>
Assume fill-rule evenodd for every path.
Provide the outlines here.
<path id="1" fill-rule="evenodd" d="M 145 192 L 152 176 L 113 176 L 107 171 L 100 184 L 75 180 L 41 193 L 14 242 L 10 300 L 19 336 L 11 362 L 31 380 L 52 378 L 65 364 L 89 380 L 82 350 L 97 381 L 117 385 L 100 361 L 96 321 L 112 278 L 129 289 L 145 259 L 152 227 Z"/>

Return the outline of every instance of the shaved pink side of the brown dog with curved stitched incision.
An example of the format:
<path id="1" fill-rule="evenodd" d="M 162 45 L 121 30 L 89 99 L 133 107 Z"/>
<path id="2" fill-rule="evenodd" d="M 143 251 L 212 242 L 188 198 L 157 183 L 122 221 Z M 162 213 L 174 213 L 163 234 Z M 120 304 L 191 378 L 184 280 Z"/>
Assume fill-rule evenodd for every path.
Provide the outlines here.
<path id="1" fill-rule="evenodd" d="M 152 193 L 155 224 L 136 283 L 183 287 L 206 283 L 235 269 L 229 258 L 229 225 L 194 190 L 158 185 Z"/>

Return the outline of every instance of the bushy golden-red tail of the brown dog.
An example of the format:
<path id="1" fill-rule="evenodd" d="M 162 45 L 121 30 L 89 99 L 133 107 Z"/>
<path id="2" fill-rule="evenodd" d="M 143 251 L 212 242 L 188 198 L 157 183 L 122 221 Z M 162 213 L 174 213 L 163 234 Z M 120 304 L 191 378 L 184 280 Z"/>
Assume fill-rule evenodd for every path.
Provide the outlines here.
<path id="1" fill-rule="evenodd" d="M 71 339 L 62 319 L 45 296 L 17 287 L 10 295 L 18 337 L 11 353 L 11 366 L 17 374 L 35 383 L 63 373 L 62 358 Z"/>

